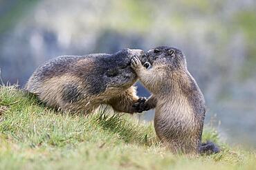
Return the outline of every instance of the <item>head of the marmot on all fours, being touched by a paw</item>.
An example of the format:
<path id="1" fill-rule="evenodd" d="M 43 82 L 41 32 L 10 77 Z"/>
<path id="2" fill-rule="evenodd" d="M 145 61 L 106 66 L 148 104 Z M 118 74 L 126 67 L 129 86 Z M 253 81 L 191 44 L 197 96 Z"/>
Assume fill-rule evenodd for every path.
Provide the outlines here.
<path id="1" fill-rule="evenodd" d="M 143 50 L 124 49 L 113 54 L 107 65 L 106 75 L 110 87 L 130 87 L 137 81 L 137 75 L 131 69 L 131 58 L 137 56 L 142 63 L 147 61 Z"/>

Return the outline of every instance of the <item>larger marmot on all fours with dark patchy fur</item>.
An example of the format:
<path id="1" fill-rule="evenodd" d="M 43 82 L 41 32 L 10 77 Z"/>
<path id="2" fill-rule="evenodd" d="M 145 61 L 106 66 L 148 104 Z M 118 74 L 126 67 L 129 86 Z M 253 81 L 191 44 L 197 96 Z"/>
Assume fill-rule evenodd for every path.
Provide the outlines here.
<path id="1" fill-rule="evenodd" d="M 133 86 L 138 79 L 131 58 L 145 59 L 143 50 L 121 50 L 115 54 L 59 56 L 35 70 L 25 89 L 46 105 L 64 111 L 90 114 L 100 104 L 134 113 L 141 102 Z M 138 104 L 137 103 L 137 104 Z"/>

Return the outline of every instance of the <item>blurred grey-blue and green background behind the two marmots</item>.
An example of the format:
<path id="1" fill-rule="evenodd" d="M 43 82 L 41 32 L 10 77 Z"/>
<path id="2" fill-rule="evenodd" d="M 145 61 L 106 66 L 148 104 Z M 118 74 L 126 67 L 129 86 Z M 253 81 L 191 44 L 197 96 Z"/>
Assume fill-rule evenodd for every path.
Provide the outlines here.
<path id="1" fill-rule="evenodd" d="M 54 56 L 159 45 L 187 56 L 208 105 L 205 123 L 256 148 L 256 1 L 0 0 L 3 83 L 22 87 Z M 140 85 L 138 94 L 149 95 Z"/>

